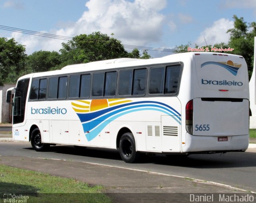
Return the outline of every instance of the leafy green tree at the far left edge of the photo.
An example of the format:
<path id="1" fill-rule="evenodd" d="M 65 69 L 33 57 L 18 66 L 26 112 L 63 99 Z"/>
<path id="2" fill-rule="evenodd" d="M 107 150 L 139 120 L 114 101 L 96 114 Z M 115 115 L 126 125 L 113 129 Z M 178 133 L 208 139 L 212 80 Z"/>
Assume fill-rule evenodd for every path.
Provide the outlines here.
<path id="1" fill-rule="evenodd" d="M 0 38 L 0 85 L 16 82 L 19 73 L 24 71 L 26 48 L 14 38 Z"/>

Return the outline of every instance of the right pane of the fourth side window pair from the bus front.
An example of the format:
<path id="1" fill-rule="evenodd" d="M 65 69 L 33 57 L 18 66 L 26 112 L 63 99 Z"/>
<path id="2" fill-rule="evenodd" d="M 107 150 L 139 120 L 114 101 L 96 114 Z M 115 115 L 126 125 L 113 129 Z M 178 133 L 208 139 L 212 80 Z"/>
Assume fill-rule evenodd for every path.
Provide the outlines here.
<path id="1" fill-rule="evenodd" d="M 106 72 L 104 96 L 116 95 L 116 72 Z"/>

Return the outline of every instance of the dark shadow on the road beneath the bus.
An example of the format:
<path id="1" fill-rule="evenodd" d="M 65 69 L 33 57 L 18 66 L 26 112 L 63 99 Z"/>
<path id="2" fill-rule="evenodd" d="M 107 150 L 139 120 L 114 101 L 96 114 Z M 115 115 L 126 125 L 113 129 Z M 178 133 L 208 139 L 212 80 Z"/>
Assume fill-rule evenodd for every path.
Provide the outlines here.
<path id="1" fill-rule="evenodd" d="M 32 149 L 32 148 L 25 148 Z M 33 150 L 33 149 L 32 149 Z M 93 157 L 100 159 L 122 160 L 118 150 L 94 147 L 74 147 L 68 145 L 56 145 L 49 147 L 46 151 L 80 157 Z M 183 155 L 157 154 L 147 156 L 142 154 L 136 164 L 158 164 L 191 168 L 233 168 L 233 167 L 256 167 L 256 153 L 251 152 L 228 152 L 215 154 L 191 154 Z"/>

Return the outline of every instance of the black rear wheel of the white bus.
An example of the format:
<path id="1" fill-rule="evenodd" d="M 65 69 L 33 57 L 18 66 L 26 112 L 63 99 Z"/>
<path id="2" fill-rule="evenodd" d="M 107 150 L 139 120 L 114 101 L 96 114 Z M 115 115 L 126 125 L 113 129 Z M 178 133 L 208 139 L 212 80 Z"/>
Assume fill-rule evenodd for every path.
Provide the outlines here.
<path id="1" fill-rule="evenodd" d="M 133 163 L 138 160 L 139 152 L 136 151 L 135 139 L 132 133 L 124 133 L 119 142 L 119 153 L 123 161 Z"/>

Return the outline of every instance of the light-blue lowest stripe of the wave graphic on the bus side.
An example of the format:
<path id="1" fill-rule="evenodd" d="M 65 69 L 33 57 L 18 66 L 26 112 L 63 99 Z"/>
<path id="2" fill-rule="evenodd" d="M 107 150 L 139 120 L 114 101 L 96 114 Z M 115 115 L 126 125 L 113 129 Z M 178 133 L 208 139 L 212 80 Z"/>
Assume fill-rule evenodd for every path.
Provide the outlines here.
<path id="1" fill-rule="evenodd" d="M 127 114 L 127 113 L 132 113 L 132 112 L 135 112 L 135 111 L 144 111 L 144 110 L 160 111 L 160 112 L 163 112 L 163 113 L 165 113 L 165 114 L 167 114 L 167 115 L 171 115 L 171 116 L 173 117 L 173 119 L 176 120 L 176 121 L 180 124 L 180 120 L 181 120 L 180 116 L 178 116 L 178 115 L 172 115 L 172 114 L 170 114 L 168 111 L 164 111 L 164 110 L 162 110 L 162 109 L 146 107 L 146 108 L 140 108 L 140 109 L 132 109 L 132 110 L 130 110 L 130 111 L 125 111 L 125 112 L 116 114 L 116 115 L 114 115 L 113 117 L 110 118 L 111 120 L 108 120 L 108 121 L 100 121 L 101 124 L 98 125 L 98 127 L 96 127 L 95 129 L 93 129 L 92 131 L 90 131 L 90 133 L 86 133 L 85 136 L 86 136 L 86 138 L 87 138 L 88 141 L 91 141 L 92 139 L 94 139 L 94 138 L 99 134 L 100 131 L 102 131 L 102 130 L 104 129 L 104 127 L 106 127 L 106 126 L 108 125 L 109 121 L 113 121 L 114 119 L 116 119 L 116 118 L 118 118 L 118 117 L 120 117 L 120 116 L 122 116 L 122 115 L 125 115 L 125 114 Z M 95 124 L 94 124 L 94 122 L 95 122 Z M 96 124 L 98 124 L 97 121 L 91 121 L 90 124 L 91 124 L 91 123 L 92 123 L 92 125 L 94 125 L 94 126 L 97 126 Z M 87 129 L 88 129 L 88 125 L 87 125 L 87 124 L 88 124 L 88 123 L 82 124 L 82 125 L 83 125 L 83 128 L 84 128 L 84 132 L 87 132 L 87 131 L 88 131 L 88 130 L 87 130 Z"/>

